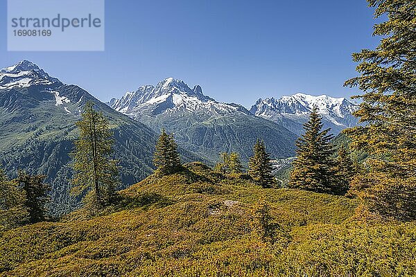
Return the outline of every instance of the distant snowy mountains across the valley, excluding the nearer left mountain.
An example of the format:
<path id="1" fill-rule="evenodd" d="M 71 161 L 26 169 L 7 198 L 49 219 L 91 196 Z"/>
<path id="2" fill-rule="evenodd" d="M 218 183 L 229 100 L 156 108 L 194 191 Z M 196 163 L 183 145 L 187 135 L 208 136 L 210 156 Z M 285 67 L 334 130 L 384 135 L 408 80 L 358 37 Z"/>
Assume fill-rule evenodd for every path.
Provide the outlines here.
<path id="1" fill-rule="evenodd" d="M 191 89 L 174 78 L 128 91 L 107 105 L 155 132 L 161 128 L 174 132 L 181 145 L 209 160 L 215 160 L 221 151 L 236 151 L 248 159 L 257 138 L 266 141 L 273 157 L 293 156 L 293 142 L 302 134 L 314 106 L 322 115 L 324 127 L 334 134 L 357 124 L 352 115 L 357 106 L 346 98 L 297 93 L 259 99 L 248 110 L 235 103 L 218 102 L 205 96 L 199 85 Z"/>

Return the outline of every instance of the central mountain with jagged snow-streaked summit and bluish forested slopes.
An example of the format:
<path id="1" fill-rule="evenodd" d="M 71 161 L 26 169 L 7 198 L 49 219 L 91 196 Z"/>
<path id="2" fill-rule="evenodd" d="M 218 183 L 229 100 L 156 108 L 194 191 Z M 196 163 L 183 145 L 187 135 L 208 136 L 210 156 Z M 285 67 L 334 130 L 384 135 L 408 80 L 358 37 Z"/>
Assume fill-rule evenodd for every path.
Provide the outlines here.
<path id="1" fill-rule="evenodd" d="M 144 123 L 155 132 L 175 134 L 182 147 L 209 161 L 220 152 L 239 152 L 243 160 L 263 139 L 272 157 L 295 154 L 297 136 L 280 123 L 255 116 L 245 107 L 205 96 L 199 85 L 191 89 L 182 80 L 166 78 L 107 102 L 116 111 Z"/>

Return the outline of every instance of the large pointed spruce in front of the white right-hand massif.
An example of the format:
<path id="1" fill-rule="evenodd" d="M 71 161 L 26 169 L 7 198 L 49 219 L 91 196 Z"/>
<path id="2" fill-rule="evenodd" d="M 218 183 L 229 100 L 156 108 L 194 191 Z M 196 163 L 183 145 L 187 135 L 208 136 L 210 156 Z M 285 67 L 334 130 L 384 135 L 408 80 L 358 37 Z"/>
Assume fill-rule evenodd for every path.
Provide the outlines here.
<path id="1" fill-rule="evenodd" d="M 316 193 L 336 193 L 332 159 L 333 135 L 330 129 L 322 130 L 322 118 L 313 107 L 309 121 L 304 124 L 304 134 L 297 139 L 296 154 L 289 187 L 311 190 Z"/>

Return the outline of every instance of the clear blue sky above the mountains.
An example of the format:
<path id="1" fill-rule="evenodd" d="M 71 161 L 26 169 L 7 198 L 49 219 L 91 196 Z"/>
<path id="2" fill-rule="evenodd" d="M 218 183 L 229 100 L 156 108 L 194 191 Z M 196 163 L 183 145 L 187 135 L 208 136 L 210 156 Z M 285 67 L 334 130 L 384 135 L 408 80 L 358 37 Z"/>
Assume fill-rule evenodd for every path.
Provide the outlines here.
<path id="1" fill-rule="evenodd" d="M 223 102 L 303 92 L 351 96 L 351 54 L 374 47 L 365 0 L 105 1 L 104 52 L 8 52 L 0 0 L 0 68 L 27 59 L 106 101 L 174 77 Z"/>

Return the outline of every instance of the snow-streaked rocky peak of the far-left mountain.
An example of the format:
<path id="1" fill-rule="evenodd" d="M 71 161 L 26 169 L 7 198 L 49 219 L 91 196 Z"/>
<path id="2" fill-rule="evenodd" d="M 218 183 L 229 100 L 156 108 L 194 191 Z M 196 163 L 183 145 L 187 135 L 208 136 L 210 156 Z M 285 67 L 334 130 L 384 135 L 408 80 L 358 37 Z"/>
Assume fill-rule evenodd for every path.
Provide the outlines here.
<path id="1" fill-rule="evenodd" d="M 30 87 L 33 85 L 48 85 L 60 83 L 39 66 L 28 60 L 0 69 L 0 89 Z"/>

